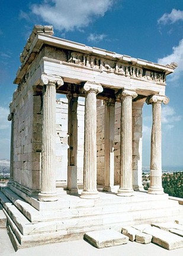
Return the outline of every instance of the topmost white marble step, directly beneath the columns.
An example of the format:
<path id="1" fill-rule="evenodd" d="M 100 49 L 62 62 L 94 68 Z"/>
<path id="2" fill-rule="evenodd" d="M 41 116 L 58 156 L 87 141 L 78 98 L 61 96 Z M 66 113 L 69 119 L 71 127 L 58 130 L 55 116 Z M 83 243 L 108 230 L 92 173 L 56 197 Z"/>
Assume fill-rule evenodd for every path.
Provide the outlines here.
<path id="1" fill-rule="evenodd" d="M 71 200 L 65 200 L 65 201 L 57 201 L 53 202 L 53 204 L 60 204 L 60 208 L 62 205 L 62 209 L 50 209 L 45 211 L 37 211 L 34 207 L 32 207 L 27 202 L 24 202 L 23 199 L 21 199 L 19 196 L 17 196 L 14 192 L 10 191 L 9 189 L 6 189 L 3 191 L 4 194 L 14 202 L 14 205 L 24 214 L 25 217 L 28 218 L 31 222 L 37 222 L 37 221 L 44 221 L 44 220 L 58 220 L 62 218 L 75 218 L 75 217 L 86 217 L 86 216 L 96 216 L 96 215 L 103 215 L 103 214 L 113 214 L 113 213 L 129 213 L 129 212 L 136 212 L 136 215 L 139 216 L 142 214 L 142 209 L 144 211 L 144 214 L 146 213 L 146 210 L 151 209 L 154 211 L 154 215 L 156 216 L 156 212 L 158 212 L 159 209 L 171 209 L 174 211 L 179 210 L 178 202 L 176 201 L 169 201 L 166 200 L 158 200 L 158 201 L 147 201 L 141 202 L 138 198 L 136 198 L 136 201 L 131 202 L 131 199 L 129 199 L 128 203 L 126 202 L 126 198 L 124 198 L 125 202 L 122 200 L 120 201 L 120 204 L 118 204 L 118 196 L 115 196 L 115 199 L 117 198 L 117 202 L 113 205 L 110 204 L 110 201 L 108 201 L 108 204 L 103 204 L 102 200 L 86 200 L 78 198 L 77 196 L 73 197 L 71 196 Z M 1 196 L 2 197 L 2 196 Z M 2 199 L 0 198 L 2 201 Z M 114 200 L 113 200 L 114 201 Z M 83 207 L 82 204 L 85 202 L 85 207 Z M 35 202 L 34 202 L 35 203 Z M 37 204 L 40 202 L 37 202 Z M 3 203 L 2 203 L 3 204 Z M 47 202 L 43 203 L 44 205 L 47 204 Z M 49 203 L 50 204 L 50 203 Z M 163 207 L 162 207 L 163 206 Z M 183 208 L 182 208 L 183 210 Z M 54 213 L 54 214 L 53 214 Z M 182 211 L 183 213 L 183 211 Z M 168 213 L 169 215 L 169 213 Z M 178 213 L 179 215 L 179 213 Z M 165 213 L 166 216 L 166 213 Z M 149 212 L 147 212 L 146 217 L 149 217 Z"/>

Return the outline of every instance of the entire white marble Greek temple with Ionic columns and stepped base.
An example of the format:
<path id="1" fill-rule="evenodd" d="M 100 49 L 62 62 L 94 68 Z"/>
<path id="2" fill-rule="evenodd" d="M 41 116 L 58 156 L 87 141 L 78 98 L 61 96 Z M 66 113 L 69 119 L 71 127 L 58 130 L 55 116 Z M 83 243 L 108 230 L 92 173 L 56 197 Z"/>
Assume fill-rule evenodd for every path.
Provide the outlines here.
<path id="1" fill-rule="evenodd" d="M 0 205 L 15 249 L 183 213 L 162 188 L 160 65 L 56 38 L 34 26 L 9 105 L 11 170 Z M 152 108 L 150 187 L 142 186 L 143 106 Z"/>

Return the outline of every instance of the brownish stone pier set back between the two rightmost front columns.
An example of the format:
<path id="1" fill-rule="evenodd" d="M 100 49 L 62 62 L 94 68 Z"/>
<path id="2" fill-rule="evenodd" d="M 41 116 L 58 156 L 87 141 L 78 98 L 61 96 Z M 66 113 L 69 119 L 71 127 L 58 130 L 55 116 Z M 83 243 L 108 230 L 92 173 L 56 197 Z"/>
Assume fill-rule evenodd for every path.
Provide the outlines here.
<path id="1" fill-rule="evenodd" d="M 145 99 L 132 103 L 132 173 L 133 189 L 142 191 L 142 108 Z"/>

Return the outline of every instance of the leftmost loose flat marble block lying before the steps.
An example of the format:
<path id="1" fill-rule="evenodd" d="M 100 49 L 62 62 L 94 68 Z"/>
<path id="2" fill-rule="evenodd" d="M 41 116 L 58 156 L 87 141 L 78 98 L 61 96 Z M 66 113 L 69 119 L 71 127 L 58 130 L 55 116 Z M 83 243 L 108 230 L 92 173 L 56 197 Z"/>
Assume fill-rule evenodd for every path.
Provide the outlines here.
<path id="1" fill-rule="evenodd" d="M 84 239 L 97 248 L 123 245 L 129 241 L 127 236 L 112 229 L 87 232 Z"/>

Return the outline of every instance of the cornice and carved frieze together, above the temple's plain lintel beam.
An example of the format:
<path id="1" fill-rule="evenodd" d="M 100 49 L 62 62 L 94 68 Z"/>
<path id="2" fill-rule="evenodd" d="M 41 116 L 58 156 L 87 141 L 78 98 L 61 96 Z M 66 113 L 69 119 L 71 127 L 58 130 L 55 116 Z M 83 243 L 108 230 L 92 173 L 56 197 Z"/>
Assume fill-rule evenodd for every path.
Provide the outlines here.
<path id="1" fill-rule="evenodd" d="M 81 43 L 56 38 L 52 26 L 35 26 L 21 54 L 21 67 L 14 83 L 20 84 L 38 55 L 44 60 L 53 60 L 70 68 L 85 68 L 99 73 L 130 77 L 131 80 L 165 85 L 166 75 L 174 72 L 175 63 L 160 65 L 150 61 L 116 54 Z M 43 50 L 44 49 L 44 50 Z M 34 67 L 35 68 L 35 67 Z M 107 77 L 107 75 L 105 77 Z M 77 80 L 77 79 L 76 79 Z M 68 81 L 67 81 L 68 82 Z M 79 83 L 79 81 L 78 81 Z M 99 82 L 101 83 L 101 82 Z"/>

